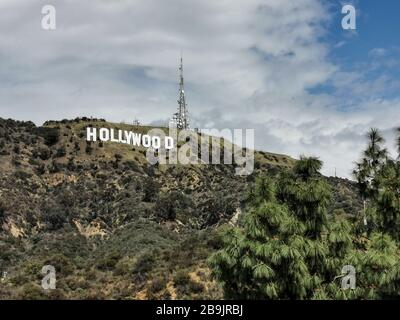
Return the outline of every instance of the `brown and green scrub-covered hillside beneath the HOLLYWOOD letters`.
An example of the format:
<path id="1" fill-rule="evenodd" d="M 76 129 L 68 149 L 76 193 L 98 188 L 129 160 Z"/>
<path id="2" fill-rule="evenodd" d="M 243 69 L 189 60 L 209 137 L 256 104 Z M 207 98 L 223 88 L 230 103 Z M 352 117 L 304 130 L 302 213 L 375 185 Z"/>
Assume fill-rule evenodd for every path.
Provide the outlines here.
<path id="1" fill-rule="evenodd" d="M 221 298 L 206 259 L 220 226 L 244 211 L 261 173 L 294 159 L 255 153 L 255 172 L 234 165 L 156 165 L 145 149 L 85 141 L 87 126 L 146 132 L 99 119 L 0 119 L 0 296 L 5 298 Z M 354 184 L 327 178 L 331 214 L 356 214 Z M 40 288 L 43 265 L 57 289 Z"/>

